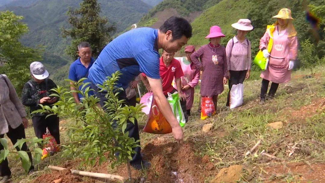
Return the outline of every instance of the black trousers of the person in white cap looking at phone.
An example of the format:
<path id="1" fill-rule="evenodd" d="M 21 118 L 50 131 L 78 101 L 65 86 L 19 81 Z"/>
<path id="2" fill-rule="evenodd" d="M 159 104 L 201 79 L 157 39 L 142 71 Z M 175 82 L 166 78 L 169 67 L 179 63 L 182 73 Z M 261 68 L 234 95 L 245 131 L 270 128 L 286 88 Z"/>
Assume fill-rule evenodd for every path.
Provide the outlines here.
<path id="1" fill-rule="evenodd" d="M 47 118 L 45 117 L 46 115 L 32 117 L 36 137 L 43 138 L 47 127 L 48 131 L 55 138 L 57 143 L 60 144 L 59 117 L 57 115 L 51 115 Z"/>

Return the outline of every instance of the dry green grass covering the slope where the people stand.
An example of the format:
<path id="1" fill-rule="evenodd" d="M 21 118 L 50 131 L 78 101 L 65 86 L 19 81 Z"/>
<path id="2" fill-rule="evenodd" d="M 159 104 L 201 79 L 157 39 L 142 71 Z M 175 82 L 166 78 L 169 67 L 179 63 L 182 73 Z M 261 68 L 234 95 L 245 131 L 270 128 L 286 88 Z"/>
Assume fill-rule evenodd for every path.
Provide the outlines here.
<path id="1" fill-rule="evenodd" d="M 324 108 L 313 111 L 311 115 L 293 116 L 292 111 L 299 111 L 303 106 L 315 104 L 315 101 L 321 101 L 325 98 L 324 81 L 325 73 L 321 72 L 325 66 L 317 69 L 316 77 L 304 78 L 308 75 L 308 70 L 299 70 L 293 72 L 292 80 L 287 84 L 279 85 L 276 98 L 267 101 L 265 105 L 258 104 L 258 96 L 260 92 L 261 80 L 257 77 L 259 72 L 252 72 L 249 80 L 244 81 L 244 104 L 243 106 L 228 110 L 225 107 L 227 98 L 227 86 L 225 91 L 218 98 L 218 114 L 207 120 L 200 120 L 197 108 L 199 106 L 199 87 L 195 90 L 195 98 L 188 124 L 184 128 L 185 141 L 193 141 L 195 143 L 193 149 L 195 154 L 199 156 L 208 155 L 215 167 L 220 170 L 232 164 L 244 164 L 249 167 L 261 167 L 265 165 L 265 159 L 259 153 L 266 150 L 269 154 L 278 150 L 276 156 L 282 162 L 303 162 L 309 163 L 322 162 L 325 159 L 325 113 Z M 300 118 L 301 117 L 301 118 Z M 282 121 L 283 128 L 279 130 L 270 129 L 267 124 Z M 65 120 L 60 124 L 62 143 L 69 142 L 67 130 L 73 122 Z M 139 125 L 146 123 L 146 116 L 139 119 Z M 201 132 L 204 124 L 213 123 L 211 133 L 208 135 Z M 141 128 L 141 127 L 140 127 Z M 33 128 L 26 129 L 27 138 L 34 137 Z M 141 144 L 152 141 L 152 139 L 160 137 L 160 135 L 152 135 L 140 131 Z M 167 136 L 173 141 L 171 135 Z M 255 155 L 249 155 L 246 158 L 243 154 L 252 148 L 254 144 L 262 140 L 261 145 L 256 149 Z M 298 143 L 299 149 L 295 153 L 287 156 L 287 145 Z M 13 171 L 12 182 L 32 182 L 32 179 L 49 172 L 45 168 L 46 165 L 58 165 L 71 161 L 71 157 L 61 157 L 61 152 L 46 158 L 37 168 L 41 171 L 34 176 L 26 176 L 19 158 L 15 153 L 9 155 L 10 167 Z M 45 168 L 45 169 L 44 169 Z M 91 171 L 92 167 L 76 166 L 75 169 Z M 44 169 L 44 170 L 43 170 Z M 116 172 L 116 169 L 110 169 L 108 172 Z M 257 170 L 257 172 L 262 172 Z M 142 176 L 147 174 L 146 171 L 141 172 Z M 156 173 L 156 175 L 159 172 Z M 290 174 L 290 175 L 289 175 Z M 256 176 L 251 182 L 263 182 Z M 285 174 L 278 177 L 278 180 L 295 181 L 299 176 L 295 174 Z M 85 178 L 87 179 L 87 178 Z M 208 181 L 211 177 L 208 177 Z"/>

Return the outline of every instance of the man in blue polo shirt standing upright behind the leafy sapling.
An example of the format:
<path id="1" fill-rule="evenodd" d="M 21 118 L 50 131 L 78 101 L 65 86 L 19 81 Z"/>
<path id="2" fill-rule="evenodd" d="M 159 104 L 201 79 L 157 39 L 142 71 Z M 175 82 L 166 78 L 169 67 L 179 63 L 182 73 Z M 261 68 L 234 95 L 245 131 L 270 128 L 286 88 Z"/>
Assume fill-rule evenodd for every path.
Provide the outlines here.
<path id="1" fill-rule="evenodd" d="M 76 59 L 72 64 L 70 65 L 70 70 L 69 70 L 69 79 L 72 81 L 76 82 L 79 81 L 81 78 L 86 78 L 88 75 L 88 71 L 90 67 L 93 65 L 95 62 L 95 59 L 91 57 L 91 47 L 88 42 L 81 42 L 78 45 L 78 55 L 79 58 Z M 86 79 L 83 81 L 84 83 L 90 82 L 89 79 Z M 73 83 L 70 82 L 70 85 Z M 83 91 L 88 86 L 84 87 Z M 81 90 L 82 85 L 79 87 L 79 90 Z M 71 90 L 76 90 L 73 86 L 70 86 Z M 84 96 L 81 95 L 80 93 L 72 92 L 74 101 L 76 103 L 80 102 L 80 99 L 83 98 Z M 94 91 L 88 91 L 88 95 L 94 95 Z"/>

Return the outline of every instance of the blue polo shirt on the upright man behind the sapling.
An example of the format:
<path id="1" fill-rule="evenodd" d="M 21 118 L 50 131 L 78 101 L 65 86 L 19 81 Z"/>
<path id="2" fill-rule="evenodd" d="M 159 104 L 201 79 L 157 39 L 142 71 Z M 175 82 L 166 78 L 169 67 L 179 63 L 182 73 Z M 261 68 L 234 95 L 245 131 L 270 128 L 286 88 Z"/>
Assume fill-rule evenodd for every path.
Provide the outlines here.
<path id="1" fill-rule="evenodd" d="M 70 65 L 70 70 L 69 70 L 69 79 L 71 79 L 72 81 L 79 81 L 81 78 L 87 77 L 87 74 L 89 72 L 89 69 L 91 68 L 91 66 L 93 65 L 93 63 L 95 62 L 94 58 L 90 59 L 90 64 L 88 66 L 88 68 L 86 68 L 81 62 L 80 62 L 80 57 L 78 59 L 76 59 L 74 62 L 72 62 L 72 64 Z M 90 82 L 89 79 L 84 80 L 84 83 Z M 85 91 L 85 89 L 90 86 L 87 85 L 86 87 L 84 87 L 83 91 Z M 82 85 L 79 87 L 79 90 L 81 90 Z M 94 95 L 94 91 L 89 91 L 88 95 Z M 78 93 L 79 99 L 83 98 L 83 96 Z"/>

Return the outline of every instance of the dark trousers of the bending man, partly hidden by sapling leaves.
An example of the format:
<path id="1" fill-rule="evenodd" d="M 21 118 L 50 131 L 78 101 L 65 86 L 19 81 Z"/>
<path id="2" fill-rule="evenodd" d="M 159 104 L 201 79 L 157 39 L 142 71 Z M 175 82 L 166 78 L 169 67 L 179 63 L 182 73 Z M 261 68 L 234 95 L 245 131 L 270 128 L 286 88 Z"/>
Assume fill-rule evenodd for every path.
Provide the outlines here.
<path id="1" fill-rule="evenodd" d="M 96 96 L 100 99 L 100 101 L 99 101 L 100 106 L 103 107 L 104 104 L 105 104 L 104 102 L 107 101 L 107 98 L 105 97 L 107 92 L 105 92 L 105 91 L 99 92 L 98 87 L 95 86 L 94 84 L 92 84 L 92 88 L 95 90 Z M 135 106 L 135 101 L 136 101 L 135 99 L 136 98 L 134 97 L 134 98 L 127 99 L 125 91 L 119 91 L 119 94 L 117 95 L 117 97 L 118 97 L 119 100 L 124 100 L 124 105 L 123 106 L 125 106 L 125 105 Z M 134 100 L 132 100 L 132 99 L 134 99 Z M 137 120 L 134 120 L 134 124 L 132 122 L 130 122 L 129 120 L 127 120 L 125 131 L 129 132 L 129 137 L 130 138 L 131 137 L 134 138 L 135 141 L 140 140 L 139 127 L 138 127 Z M 140 145 L 140 142 L 138 143 L 138 145 Z M 130 161 L 130 163 L 131 164 L 141 163 L 141 161 L 142 161 L 142 156 L 140 154 L 141 148 L 136 147 L 136 148 L 133 148 L 132 150 L 136 151 L 136 153 L 132 154 L 132 160 Z"/>

